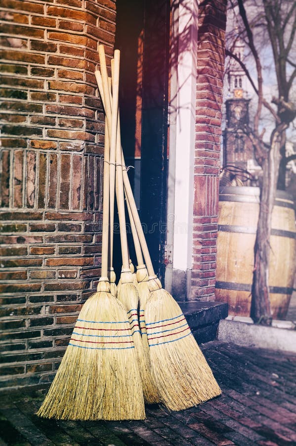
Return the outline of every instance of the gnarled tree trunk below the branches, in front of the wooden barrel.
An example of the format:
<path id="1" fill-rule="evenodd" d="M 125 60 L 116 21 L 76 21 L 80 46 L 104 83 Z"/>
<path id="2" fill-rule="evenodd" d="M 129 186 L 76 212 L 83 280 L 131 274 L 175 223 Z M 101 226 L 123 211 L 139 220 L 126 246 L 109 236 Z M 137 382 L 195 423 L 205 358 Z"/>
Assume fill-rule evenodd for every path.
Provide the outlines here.
<path id="1" fill-rule="evenodd" d="M 271 217 L 275 201 L 276 186 L 280 165 L 282 134 L 275 130 L 271 136 L 271 147 L 262 163 L 263 178 L 260 194 L 259 218 L 254 246 L 254 276 L 252 287 L 251 317 L 254 322 L 271 324 L 269 301 L 269 254 Z"/>

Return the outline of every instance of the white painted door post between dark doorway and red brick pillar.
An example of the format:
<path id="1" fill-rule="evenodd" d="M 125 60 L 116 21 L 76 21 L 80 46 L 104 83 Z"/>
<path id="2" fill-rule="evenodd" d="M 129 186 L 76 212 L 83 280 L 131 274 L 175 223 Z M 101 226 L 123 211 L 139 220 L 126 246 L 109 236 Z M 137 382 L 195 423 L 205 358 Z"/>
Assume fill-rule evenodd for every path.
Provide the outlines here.
<path id="1" fill-rule="evenodd" d="M 192 266 L 192 220 L 194 191 L 194 148 L 197 76 L 198 4 L 180 0 L 173 15 L 173 54 L 171 72 L 168 248 L 169 269 L 187 271 Z"/>

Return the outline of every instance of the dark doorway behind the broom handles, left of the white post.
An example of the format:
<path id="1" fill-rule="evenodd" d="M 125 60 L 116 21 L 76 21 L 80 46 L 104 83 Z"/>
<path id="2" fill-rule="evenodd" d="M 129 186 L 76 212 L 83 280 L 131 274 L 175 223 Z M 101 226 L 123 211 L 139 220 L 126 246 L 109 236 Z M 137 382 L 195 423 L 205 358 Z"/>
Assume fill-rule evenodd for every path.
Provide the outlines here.
<path id="1" fill-rule="evenodd" d="M 169 0 L 117 0 L 122 144 L 155 272 L 165 275 Z M 130 245 L 132 245 L 130 243 Z M 115 241 L 115 246 L 119 246 Z M 135 261 L 131 250 L 130 256 Z M 115 259 L 116 260 L 116 256 Z M 119 273 L 120 265 L 115 265 Z"/>

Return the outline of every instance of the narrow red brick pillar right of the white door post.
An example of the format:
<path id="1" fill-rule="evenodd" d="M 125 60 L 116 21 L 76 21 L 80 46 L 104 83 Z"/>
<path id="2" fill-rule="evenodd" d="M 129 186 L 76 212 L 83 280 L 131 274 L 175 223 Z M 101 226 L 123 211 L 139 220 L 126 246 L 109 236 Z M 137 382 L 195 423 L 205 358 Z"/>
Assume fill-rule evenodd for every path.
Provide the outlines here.
<path id="1" fill-rule="evenodd" d="M 199 4 L 191 300 L 214 300 L 226 2 Z"/>

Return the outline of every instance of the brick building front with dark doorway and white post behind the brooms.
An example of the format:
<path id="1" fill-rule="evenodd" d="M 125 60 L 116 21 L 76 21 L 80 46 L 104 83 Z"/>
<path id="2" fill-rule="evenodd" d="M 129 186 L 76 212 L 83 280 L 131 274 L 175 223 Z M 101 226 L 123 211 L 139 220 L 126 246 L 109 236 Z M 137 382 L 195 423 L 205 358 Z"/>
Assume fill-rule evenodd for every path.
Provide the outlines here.
<path id="1" fill-rule="evenodd" d="M 138 14 L 143 85 L 130 94 L 142 152 L 131 158 L 140 159 L 142 219 L 159 224 L 148 244 L 176 299 L 214 300 L 226 0 L 144 1 Z M 120 0 L 1 2 L 5 387 L 53 379 L 100 276 L 104 115 L 94 70 L 100 43 L 109 63 L 115 42 L 128 60 L 127 17 L 140 23 Z M 153 74 L 155 55 L 164 63 Z"/>

